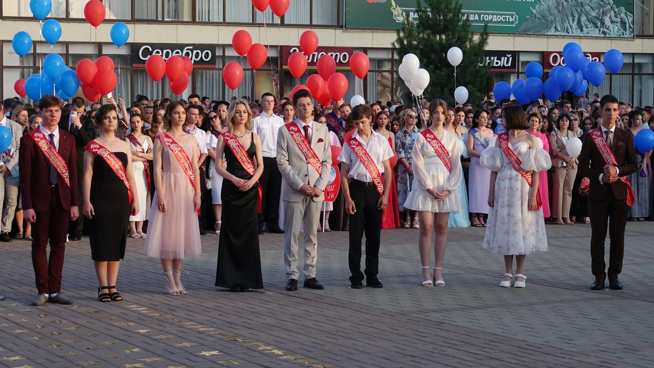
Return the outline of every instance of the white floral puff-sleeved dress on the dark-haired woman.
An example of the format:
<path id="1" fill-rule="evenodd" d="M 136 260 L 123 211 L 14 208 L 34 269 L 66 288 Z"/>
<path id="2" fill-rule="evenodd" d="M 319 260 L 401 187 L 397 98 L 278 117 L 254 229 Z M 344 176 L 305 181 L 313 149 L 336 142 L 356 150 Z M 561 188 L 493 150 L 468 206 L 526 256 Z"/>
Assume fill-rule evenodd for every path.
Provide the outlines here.
<path id="1" fill-rule="evenodd" d="M 522 161 L 526 171 L 545 171 L 552 159 L 542 148 L 529 148 L 527 142 L 519 142 L 509 148 Z M 530 186 L 526 179 L 504 156 L 499 147 L 486 148 L 479 163 L 490 171 L 497 171 L 495 201 L 489 211 L 483 248 L 502 256 L 531 254 L 547 251 L 547 235 L 543 209 L 528 210 Z"/>

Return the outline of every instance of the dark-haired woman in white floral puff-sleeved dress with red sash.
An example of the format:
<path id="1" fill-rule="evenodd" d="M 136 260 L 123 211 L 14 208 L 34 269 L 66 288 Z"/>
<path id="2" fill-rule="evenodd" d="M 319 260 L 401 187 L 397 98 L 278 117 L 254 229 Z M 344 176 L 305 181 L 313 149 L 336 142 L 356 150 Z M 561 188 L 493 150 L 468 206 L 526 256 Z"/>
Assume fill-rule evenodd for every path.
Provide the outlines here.
<path id="1" fill-rule="evenodd" d="M 495 145 L 479 158 L 480 165 L 491 171 L 490 213 L 483 248 L 504 256 L 506 273 L 500 286 L 508 288 L 513 280 L 515 288 L 524 288 L 525 256 L 547 250 L 538 183 L 539 172 L 549 169 L 552 160 L 536 137 L 525 131 L 529 125 L 522 107 L 510 105 L 502 112 L 508 131 L 500 134 Z"/>

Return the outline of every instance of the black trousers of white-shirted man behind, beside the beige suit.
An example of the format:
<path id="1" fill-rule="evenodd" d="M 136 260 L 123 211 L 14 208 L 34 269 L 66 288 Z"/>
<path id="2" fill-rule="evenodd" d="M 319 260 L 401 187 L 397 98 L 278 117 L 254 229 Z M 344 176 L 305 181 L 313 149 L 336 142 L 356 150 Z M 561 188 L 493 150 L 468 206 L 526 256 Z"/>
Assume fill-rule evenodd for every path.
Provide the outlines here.
<path id="1" fill-rule="evenodd" d="M 282 191 L 282 175 L 277 167 L 277 158 L 264 157 L 264 172 L 259 178 L 261 185 L 261 210 L 259 230 L 264 228 L 264 221 L 271 225 L 279 224 L 279 196 Z"/>

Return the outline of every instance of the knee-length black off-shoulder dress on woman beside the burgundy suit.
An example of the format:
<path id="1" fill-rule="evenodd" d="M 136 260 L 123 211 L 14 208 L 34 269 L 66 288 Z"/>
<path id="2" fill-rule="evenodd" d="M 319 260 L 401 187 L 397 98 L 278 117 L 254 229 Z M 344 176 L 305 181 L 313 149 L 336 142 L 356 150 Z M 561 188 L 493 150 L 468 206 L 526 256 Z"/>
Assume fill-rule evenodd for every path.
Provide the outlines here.
<path id="1" fill-rule="evenodd" d="M 127 154 L 114 152 L 124 167 Z M 94 261 L 120 261 L 125 257 L 125 237 L 129 222 L 127 187 L 105 159 L 93 159 L 90 201 L 95 214 L 89 220 L 91 258 Z"/>

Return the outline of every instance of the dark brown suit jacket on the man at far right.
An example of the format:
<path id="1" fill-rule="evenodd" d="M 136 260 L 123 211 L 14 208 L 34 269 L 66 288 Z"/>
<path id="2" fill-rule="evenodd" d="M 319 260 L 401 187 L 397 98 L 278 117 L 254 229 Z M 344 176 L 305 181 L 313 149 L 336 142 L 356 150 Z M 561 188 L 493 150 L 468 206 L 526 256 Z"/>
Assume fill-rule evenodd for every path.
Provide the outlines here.
<path id="1" fill-rule="evenodd" d="M 600 128 L 600 131 L 602 129 Z M 603 135 L 602 135 L 603 136 Z M 634 148 L 634 136 L 615 127 L 613 134 L 613 144 L 611 151 L 617 162 L 619 170 L 618 176 L 627 176 L 635 173 L 638 169 L 636 162 L 636 148 Z M 597 149 L 595 142 L 591 138 L 591 132 L 583 135 L 583 146 L 581 147 L 581 154 L 579 154 L 579 174 L 589 178 L 591 184 L 589 186 L 589 200 L 591 201 L 604 201 L 606 195 L 609 193 L 609 186 L 616 199 L 627 199 L 627 184 L 621 180 L 617 180 L 613 184 L 602 183 L 600 184 L 600 174 L 604 173 L 604 165 L 606 162 L 602 158 L 602 154 Z"/>

